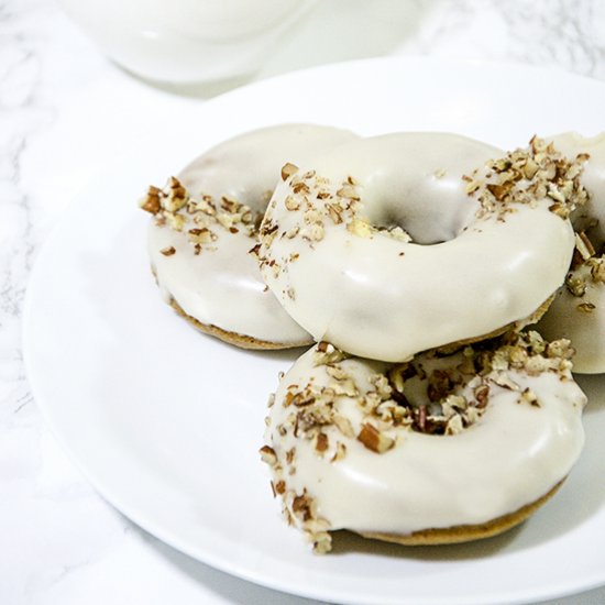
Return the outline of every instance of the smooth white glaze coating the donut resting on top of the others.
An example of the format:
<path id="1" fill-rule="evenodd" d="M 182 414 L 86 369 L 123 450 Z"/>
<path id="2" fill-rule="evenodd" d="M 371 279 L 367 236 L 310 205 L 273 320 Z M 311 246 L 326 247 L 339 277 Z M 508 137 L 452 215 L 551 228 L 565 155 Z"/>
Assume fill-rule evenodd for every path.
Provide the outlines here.
<path id="1" fill-rule="evenodd" d="M 287 180 L 265 216 L 264 224 L 278 224 L 278 231 L 273 241 L 265 239 L 270 245 L 261 255 L 284 267 L 263 265 L 267 285 L 316 340 L 385 361 L 527 318 L 563 282 L 573 231 L 548 210 L 550 201 L 519 207 L 505 221 L 474 218 L 479 206 L 461 177 L 499 155 L 483 143 L 440 133 L 391 134 L 337 147 L 316 161 L 317 174 L 334 188 L 353 176 L 362 216 L 375 224 L 397 222 L 432 245 L 384 232 L 361 238 L 330 221 L 312 246 L 283 237 L 305 230 L 304 205 L 299 211 L 285 207 Z M 312 204 L 324 208 L 322 200 Z M 299 257 L 288 262 L 293 254 Z"/>

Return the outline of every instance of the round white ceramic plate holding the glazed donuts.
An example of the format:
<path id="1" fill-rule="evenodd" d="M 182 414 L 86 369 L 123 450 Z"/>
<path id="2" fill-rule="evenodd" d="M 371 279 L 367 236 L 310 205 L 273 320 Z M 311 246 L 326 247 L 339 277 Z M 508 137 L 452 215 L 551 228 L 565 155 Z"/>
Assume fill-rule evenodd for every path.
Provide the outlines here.
<path id="1" fill-rule="evenodd" d="M 283 121 L 455 131 L 509 147 L 603 128 L 605 86 L 518 66 L 383 59 L 260 82 L 175 116 L 109 166 L 41 252 L 24 317 L 35 398 L 109 502 L 169 544 L 234 575 L 349 603 L 516 603 L 605 583 L 605 383 L 582 381 L 584 455 L 522 527 L 468 546 L 404 549 L 342 535 L 312 556 L 273 501 L 257 449 L 267 395 L 294 353 L 201 336 L 160 299 L 136 199 L 202 148 Z M 185 141 L 185 142 L 184 142 Z M 178 144 L 176 144 L 178 142 Z M 128 166 L 128 168 L 125 168 Z M 481 452 L 477 452 L 481 455 Z"/>

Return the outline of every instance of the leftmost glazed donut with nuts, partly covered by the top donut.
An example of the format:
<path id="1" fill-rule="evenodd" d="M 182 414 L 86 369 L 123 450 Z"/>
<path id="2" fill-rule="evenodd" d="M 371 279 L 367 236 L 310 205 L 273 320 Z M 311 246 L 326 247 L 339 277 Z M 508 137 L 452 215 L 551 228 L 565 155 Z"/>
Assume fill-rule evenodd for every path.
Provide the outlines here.
<path id="1" fill-rule="evenodd" d="M 257 226 L 287 162 L 350 141 L 327 127 L 285 124 L 231 139 L 142 201 L 154 215 L 148 253 L 160 289 L 200 330 L 240 346 L 311 342 L 266 292 L 255 257 Z"/>

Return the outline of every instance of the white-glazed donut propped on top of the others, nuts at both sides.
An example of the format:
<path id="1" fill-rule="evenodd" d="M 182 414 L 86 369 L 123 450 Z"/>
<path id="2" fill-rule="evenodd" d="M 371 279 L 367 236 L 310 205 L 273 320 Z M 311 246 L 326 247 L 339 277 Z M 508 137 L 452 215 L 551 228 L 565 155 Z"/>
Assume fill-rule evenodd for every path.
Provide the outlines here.
<path id="1" fill-rule="evenodd" d="M 537 139 L 506 156 L 447 133 L 353 140 L 285 167 L 261 272 L 316 341 L 364 358 L 519 328 L 563 283 L 579 172 Z"/>

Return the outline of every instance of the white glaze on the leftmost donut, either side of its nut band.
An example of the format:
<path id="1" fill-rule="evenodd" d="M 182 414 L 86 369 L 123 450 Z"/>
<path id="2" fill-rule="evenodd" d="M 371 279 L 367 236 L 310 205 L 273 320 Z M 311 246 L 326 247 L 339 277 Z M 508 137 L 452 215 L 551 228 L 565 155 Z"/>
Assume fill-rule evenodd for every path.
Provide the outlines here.
<path id="1" fill-rule="evenodd" d="M 350 132 L 309 124 L 285 124 L 231 139 L 189 164 L 179 175 L 194 199 L 235 199 L 262 212 L 286 162 L 308 161 L 320 150 L 348 141 Z M 195 227 L 195 226 L 194 226 Z M 284 345 L 310 342 L 309 336 L 266 292 L 255 258 L 255 239 L 229 233 L 217 223 L 212 245 L 196 255 L 185 232 L 151 221 L 148 251 L 157 283 L 169 300 L 205 324 Z M 185 230 L 186 231 L 186 230 Z M 160 251 L 174 246 L 176 253 Z"/>

